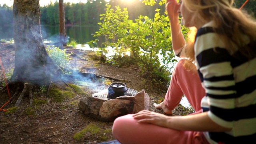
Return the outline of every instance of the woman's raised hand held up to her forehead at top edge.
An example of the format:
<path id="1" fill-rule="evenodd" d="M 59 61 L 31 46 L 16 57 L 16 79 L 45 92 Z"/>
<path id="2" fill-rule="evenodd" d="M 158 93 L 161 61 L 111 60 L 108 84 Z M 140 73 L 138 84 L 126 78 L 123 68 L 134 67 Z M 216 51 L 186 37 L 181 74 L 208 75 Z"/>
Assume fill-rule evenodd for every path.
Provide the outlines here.
<path id="1" fill-rule="evenodd" d="M 178 12 L 179 8 L 180 8 L 180 4 L 177 3 L 177 0 L 167 0 L 165 9 L 170 19 L 178 18 L 180 14 Z"/>

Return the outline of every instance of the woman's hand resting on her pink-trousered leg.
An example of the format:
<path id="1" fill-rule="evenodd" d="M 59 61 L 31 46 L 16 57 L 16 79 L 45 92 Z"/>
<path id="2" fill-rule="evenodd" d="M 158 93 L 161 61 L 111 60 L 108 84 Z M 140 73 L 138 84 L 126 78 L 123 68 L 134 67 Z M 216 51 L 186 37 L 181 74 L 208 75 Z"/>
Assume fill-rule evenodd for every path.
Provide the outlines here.
<path id="1" fill-rule="evenodd" d="M 170 119 L 170 116 L 148 110 L 142 110 L 134 114 L 133 118 L 137 119 L 139 123 L 150 123 L 162 127 L 168 127 L 168 119 Z"/>

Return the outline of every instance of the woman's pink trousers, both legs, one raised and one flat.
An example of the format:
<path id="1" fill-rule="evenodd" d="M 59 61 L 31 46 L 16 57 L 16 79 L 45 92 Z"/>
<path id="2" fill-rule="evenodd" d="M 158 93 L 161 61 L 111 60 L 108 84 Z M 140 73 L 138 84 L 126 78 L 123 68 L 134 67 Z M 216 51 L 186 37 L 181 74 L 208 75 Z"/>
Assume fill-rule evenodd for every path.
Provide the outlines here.
<path id="1" fill-rule="evenodd" d="M 205 96 L 197 73 L 185 70 L 180 60 L 172 74 L 172 80 L 164 104 L 174 110 L 185 95 L 196 113 L 200 112 L 201 99 Z M 116 118 L 112 133 L 122 144 L 208 144 L 202 132 L 178 131 L 153 124 L 139 124 L 132 114 Z"/>

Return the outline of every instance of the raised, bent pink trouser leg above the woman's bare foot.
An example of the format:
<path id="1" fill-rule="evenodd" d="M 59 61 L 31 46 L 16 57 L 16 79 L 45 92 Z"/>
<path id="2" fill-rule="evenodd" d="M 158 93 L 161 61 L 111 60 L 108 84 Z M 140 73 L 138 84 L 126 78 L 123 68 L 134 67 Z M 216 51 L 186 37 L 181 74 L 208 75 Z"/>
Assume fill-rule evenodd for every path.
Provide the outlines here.
<path id="1" fill-rule="evenodd" d="M 183 64 L 186 59 L 181 59 L 177 63 L 172 73 L 170 86 L 166 92 L 164 105 L 168 110 L 174 110 L 185 95 L 188 102 L 195 109 L 201 110 L 201 100 L 206 95 L 200 82 L 197 72 L 185 70 Z"/>

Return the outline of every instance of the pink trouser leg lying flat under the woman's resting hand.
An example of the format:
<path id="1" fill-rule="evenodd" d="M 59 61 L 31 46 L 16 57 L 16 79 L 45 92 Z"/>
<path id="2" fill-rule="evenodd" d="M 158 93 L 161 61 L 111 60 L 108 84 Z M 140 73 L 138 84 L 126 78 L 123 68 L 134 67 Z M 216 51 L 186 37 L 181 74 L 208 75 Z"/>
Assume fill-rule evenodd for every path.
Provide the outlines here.
<path id="1" fill-rule="evenodd" d="M 202 132 L 139 124 L 132 114 L 116 118 L 112 133 L 121 144 L 209 144 Z"/>

